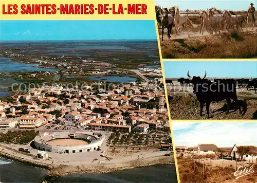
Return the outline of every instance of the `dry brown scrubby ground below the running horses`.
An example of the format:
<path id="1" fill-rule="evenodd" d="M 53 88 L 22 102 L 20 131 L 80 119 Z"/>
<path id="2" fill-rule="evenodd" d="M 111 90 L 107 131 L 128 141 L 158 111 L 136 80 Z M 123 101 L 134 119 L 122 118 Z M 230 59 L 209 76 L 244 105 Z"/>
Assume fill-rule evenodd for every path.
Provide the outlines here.
<path id="1" fill-rule="evenodd" d="M 221 34 L 210 35 L 206 30 L 200 34 L 200 25 L 194 25 L 188 33 L 182 30 L 180 34 L 167 37 L 167 29 L 161 41 L 161 29 L 159 39 L 163 59 L 196 59 L 196 58 L 256 58 L 257 57 L 257 28 L 247 29 L 243 26 L 243 32 L 235 30 L 222 30 Z M 173 28 L 174 29 L 174 28 Z"/>

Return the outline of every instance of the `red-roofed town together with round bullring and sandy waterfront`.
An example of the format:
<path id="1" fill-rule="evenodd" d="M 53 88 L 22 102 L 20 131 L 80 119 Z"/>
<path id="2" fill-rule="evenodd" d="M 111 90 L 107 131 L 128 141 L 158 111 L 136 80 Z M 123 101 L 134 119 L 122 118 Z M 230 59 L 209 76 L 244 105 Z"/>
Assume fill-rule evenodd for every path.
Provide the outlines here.
<path id="1" fill-rule="evenodd" d="M 166 158 L 163 163 L 173 162 L 166 100 L 159 86 L 150 86 L 131 82 L 113 90 L 94 91 L 89 86 L 81 90 L 45 85 L 9 97 L 0 103 L 1 153 L 49 164 L 51 169 L 96 159 L 98 163 L 112 163 L 112 168 L 113 163 L 140 162 L 139 158 L 143 161 L 138 166 L 162 163 L 160 158 Z M 10 140 L 11 133 L 26 134 L 28 130 L 36 133 Z M 85 136 L 86 142 L 70 141 L 72 134 L 80 141 Z M 84 153 L 87 158 L 82 158 Z"/>

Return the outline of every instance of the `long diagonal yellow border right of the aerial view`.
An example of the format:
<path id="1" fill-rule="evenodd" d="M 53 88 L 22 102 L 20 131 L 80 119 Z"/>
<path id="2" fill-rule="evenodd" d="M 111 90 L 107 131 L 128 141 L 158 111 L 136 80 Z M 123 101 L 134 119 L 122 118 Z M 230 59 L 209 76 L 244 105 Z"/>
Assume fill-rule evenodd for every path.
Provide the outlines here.
<path id="1" fill-rule="evenodd" d="M 156 29 L 156 37 L 157 37 L 158 49 L 159 49 L 159 57 L 160 57 L 160 65 L 161 65 L 161 72 L 162 72 L 162 80 L 163 80 L 163 85 L 164 85 L 164 94 L 165 94 L 165 98 L 166 98 L 168 118 L 169 118 L 169 123 L 170 123 L 171 140 L 172 140 L 172 148 L 173 148 L 173 153 L 174 153 L 173 156 L 174 156 L 174 161 L 175 161 L 177 182 L 180 183 L 179 172 L 178 172 L 178 163 L 177 163 L 177 155 L 176 155 L 176 150 L 175 150 L 175 143 L 174 143 L 174 137 L 173 137 L 172 124 L 171 124 L 172 122 L 171 122 L 171 114 L 170 114 L 170 105 L 169 105 L 169 101 L 168 101 L 168 91 L 167 91 L 167 87 L 166 87 L 166 81 L 165 81 L 165 75 L 164 75 L 164 67 L 163 67 L 163 63 L 162 63 L 160 39 L 159 39 L 159 32 L 158 32 L 158 24 L 157 24 L 157 20 L 156 19 L 154 21 L 155 21 L 155 29 Z"/>

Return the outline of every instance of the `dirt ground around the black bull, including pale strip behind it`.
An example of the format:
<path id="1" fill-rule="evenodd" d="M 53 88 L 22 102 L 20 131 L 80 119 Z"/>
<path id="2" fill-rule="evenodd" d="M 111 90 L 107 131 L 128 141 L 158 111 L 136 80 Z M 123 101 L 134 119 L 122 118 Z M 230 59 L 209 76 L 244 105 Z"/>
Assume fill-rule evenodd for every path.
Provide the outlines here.
<path id="1" fill-rule="evenodd" d="M 199 115 L 200 104 L 193 94 L 192 86 L 181 87 L 174 80 L 173 84 L 174 86 L 167 85 L 171 119 L 207 119 L 205 106 L 203 116 Z M 247 111 L 243 116 L 233 106 L 229 114 L 226 114 L 226 100 L 224 100 L 210 104 L 210 119 L 257 119 L 257 94 L 254 90 L 237 88 L 237 97 L 246 100 Z"/>

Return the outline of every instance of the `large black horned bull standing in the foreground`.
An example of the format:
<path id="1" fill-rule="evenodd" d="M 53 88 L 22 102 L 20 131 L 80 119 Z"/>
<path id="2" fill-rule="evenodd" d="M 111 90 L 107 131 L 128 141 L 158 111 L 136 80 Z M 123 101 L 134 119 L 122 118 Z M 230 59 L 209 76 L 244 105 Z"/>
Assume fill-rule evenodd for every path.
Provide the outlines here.
<path id="1" fill-rule="evenodd" d="M 205 71 L 205 76 L 203 79 L 196 76 L 192 78 L 188 71 L 188 77 L 192 78 L 191 83 L 193 84 L 194 94 L 196 94 L 197 100 L 200 102 L 200 116 L 203 116 L 204 104 L 206 104 L 207 117 L 209 118 L 210 103 L 222 101 L 225 99 L 228 103 L 227 114 L 231 104 L 230 99 L 232 99 L 238 105 L 240 114 L 242 114 L 240 105 L 237 101 L 236 84 L 234 79 L 225 79 L 218 82 L 211 82 L 205 79 L 206 75 L 207 73 Z"/>

